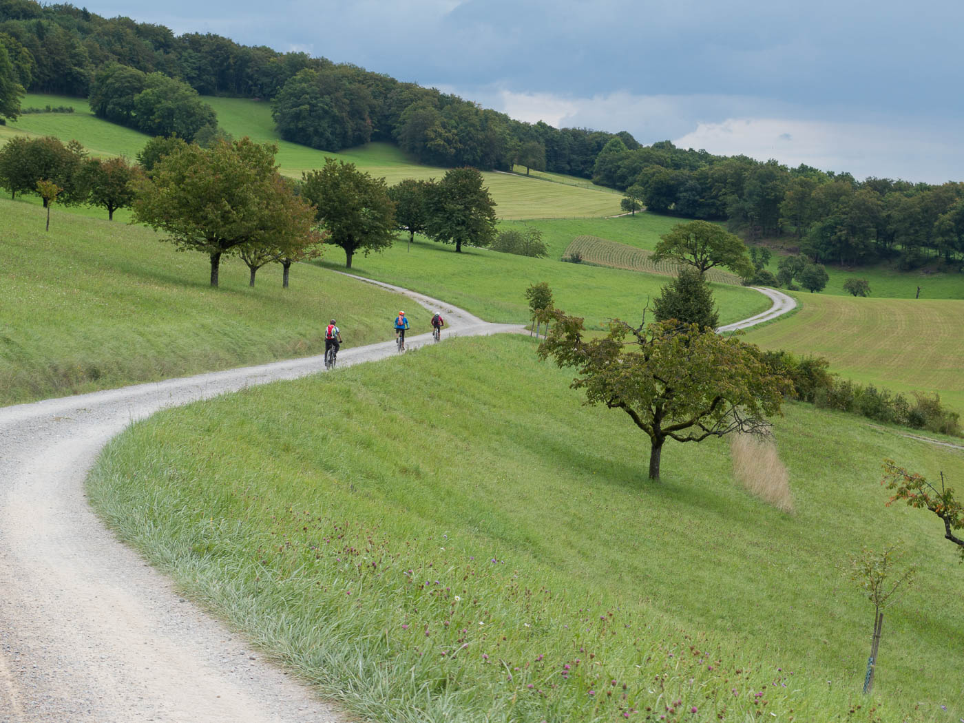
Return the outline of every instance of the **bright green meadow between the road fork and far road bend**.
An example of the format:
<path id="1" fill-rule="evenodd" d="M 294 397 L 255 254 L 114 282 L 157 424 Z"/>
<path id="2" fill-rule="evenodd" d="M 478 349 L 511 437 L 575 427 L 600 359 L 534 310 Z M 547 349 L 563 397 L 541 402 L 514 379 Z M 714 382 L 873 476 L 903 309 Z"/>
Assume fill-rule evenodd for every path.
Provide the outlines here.
<path id="1" fill-rule="evenodd" d="M 384 254 L 352 259 L 353 273 L 390 281 L 455 306 L 467 308 L 487 321 L 529 321 L 525 289 L 540 281 L 551 287 L 556 308 L 583 316 L 586 325 L 602 328 L 620 317 L 637 323 L 649 299 L 659 294 L 666 277 L 586 264 L 560 263 L 554 258 L 529 258 L 464 248 L 456 254 L 451 245 L 416 236 L 411 250 L 408 234 L 399 237 Z M 344 268 L 345 254 L 333 248 L 323 264 Z M 714 284 L 720 323 L 753 316 L 770 307 L 770 301 L 753 289 Z"/>

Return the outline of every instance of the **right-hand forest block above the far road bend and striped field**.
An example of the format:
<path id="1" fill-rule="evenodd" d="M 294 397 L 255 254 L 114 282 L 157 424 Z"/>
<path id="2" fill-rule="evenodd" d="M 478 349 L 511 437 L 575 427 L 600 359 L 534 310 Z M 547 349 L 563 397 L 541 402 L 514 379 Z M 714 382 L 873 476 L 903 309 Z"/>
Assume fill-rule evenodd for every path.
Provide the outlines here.
<path id="1" fill-rule="evenodd" d="M 857 181 L 774 160 L 716 156 L 669 141 L 630 149 L 610 141 L 594 182 L 624 190 L 624 208 L 726 221 L 753 241 L 790 240 L 816 262 L 904 269 L 938 259 L 964 263 L 964 184 Z"/>

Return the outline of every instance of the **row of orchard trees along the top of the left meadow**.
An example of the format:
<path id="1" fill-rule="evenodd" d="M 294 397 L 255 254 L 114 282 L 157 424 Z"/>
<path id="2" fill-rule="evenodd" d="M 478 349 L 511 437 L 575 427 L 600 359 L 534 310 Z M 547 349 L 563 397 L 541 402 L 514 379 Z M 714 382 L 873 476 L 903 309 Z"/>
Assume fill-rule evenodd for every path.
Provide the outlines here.
<path id="1" fill-rule="evenodd" d="M 321 255 L 324 241 L 345 252 L 351 268 L 357 253 L 382 251 L 398 230 L 433 240 L 545 255 L 538 232 L 496 236 L 495 201 L 482 174 L 463 167 L 440 181 L 406 179 L 388 188 L 352 163 L 327 158 L 324 168 L 301 181 L 281 176 L 278 147 L 220 139 L 209 147 L 176 136 L 147 142 L 131 165 L 124 158 L 89 158 L 76 141 L 15 136 L 0 148 L 0 187 L 11 194 L 38 194 L 43 205 L 91 203 L 113 220 L 131 207 L 134 221 L 166 234 L 181 250 L 207 254 L 210 282 L 218 285 L 222 258 L 238 255 L 251 271 L 281 263 L 283 285 L 295 261 Z M 49 211 L 48 211 L 49 228 Z M 515 234 L 515 235 L 513 235 Z M 517 238 L 518 236 L 518 238 Z M 504 238 L 503 238 L 504 237 Z"/>

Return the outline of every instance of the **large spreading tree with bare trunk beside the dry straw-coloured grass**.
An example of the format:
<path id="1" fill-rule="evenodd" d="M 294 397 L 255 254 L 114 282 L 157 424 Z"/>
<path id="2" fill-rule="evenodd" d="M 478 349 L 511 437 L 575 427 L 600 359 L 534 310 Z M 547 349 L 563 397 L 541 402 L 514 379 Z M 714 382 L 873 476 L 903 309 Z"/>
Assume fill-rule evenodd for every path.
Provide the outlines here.
<path id="1" fill-rule="evenodd" d="M 586 338 L 582 319 L 562 311 L 539 346 L 542 359 L 576 368 L 572 388 L 589 404 L 629 415 L 650 438 L 650 479 L 659 479 L 663 442 L 702 442 L 732 432 L 763 433 L 792 385 L 774 376 L 757 347 L 698 324 L 631 327 L 619 319 Z M 726 373 L 721 374 L 720 370 Z"/>

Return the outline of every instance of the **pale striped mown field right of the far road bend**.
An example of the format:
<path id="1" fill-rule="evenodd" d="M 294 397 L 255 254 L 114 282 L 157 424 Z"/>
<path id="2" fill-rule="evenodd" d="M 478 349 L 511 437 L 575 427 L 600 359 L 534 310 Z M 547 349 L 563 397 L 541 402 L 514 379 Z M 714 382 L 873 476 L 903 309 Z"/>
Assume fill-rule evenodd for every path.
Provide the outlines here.
<path id="1" fill-rule="evenodd" d="M 894 391 L 939 391 L 964 415 L 964 301 L 854 299 L 796 294 L 790 318 L 751 329 L 746 339 L 767 349 L 816 354 L 831 371 Z"/>

